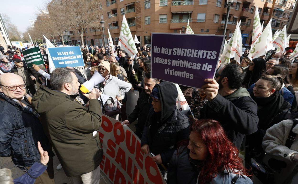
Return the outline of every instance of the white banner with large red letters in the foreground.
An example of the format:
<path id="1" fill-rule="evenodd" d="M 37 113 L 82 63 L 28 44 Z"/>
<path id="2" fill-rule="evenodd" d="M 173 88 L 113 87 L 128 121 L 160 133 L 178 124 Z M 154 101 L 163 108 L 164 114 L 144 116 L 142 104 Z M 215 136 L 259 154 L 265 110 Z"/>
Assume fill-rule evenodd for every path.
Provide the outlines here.
<path id="1" fill-rule="evenodd" d="M 122 122 L 102 115 L 99 129 L 103 145 L 100 169 L 114 184 L 166 184 L 150 154 L 141 151 L 140 139 Z"/>

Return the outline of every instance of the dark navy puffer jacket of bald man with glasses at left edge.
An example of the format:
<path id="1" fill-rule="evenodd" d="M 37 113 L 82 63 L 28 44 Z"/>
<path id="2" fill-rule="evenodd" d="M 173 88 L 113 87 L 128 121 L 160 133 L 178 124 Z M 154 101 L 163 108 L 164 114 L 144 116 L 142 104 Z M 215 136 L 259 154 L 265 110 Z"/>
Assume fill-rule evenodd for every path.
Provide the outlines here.
<path id="1" fill-rule="evenodd" d="M 53 156 L 38 118 L 0 93 L 0 156 L 10 157 L 18 166 L 30 167 L 40 160 L 37 141 Z"/>

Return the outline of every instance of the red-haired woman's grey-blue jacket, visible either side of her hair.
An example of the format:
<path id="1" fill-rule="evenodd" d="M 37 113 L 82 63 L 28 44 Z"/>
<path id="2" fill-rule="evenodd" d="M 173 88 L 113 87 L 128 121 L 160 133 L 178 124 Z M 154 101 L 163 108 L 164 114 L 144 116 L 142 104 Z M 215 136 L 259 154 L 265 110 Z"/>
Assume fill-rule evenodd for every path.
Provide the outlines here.
<path id="1" fill-rule="evenodd" d="M 184 149 L 185 148 L 185 149 Z M 177 150 L 174 152 L 173 157 L 170 161 L 170 165 L 168 167 L 168 183 L 170 184 L 197 184 L 200 183 L 198 181 L 198 175 L 195 174 L 193 171 L 193 166 L 190 163 L 188 158 L 187 148 L 186 146 L 181 146 L 179 148 L 179 153 L 182 151 L 181 154 L 177 154 Z M 236 176 L 235 173 L 232 171 L 224 171 L 218 172 L 216 177 L 214 177 L 210 184 L 230 184 L 232 179 Z M 239 175 L 238 180 L 236 180 L 235 184 L 252 184 L 252 180 L 245 175 Z"/>

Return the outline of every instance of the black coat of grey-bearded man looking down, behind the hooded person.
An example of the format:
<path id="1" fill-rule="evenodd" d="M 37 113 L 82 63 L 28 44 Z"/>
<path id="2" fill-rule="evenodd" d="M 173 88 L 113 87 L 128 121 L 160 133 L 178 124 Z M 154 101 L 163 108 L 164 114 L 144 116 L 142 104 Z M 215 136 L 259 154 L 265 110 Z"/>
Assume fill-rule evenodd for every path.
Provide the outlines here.
<path id="1" fill-rule="evenodd" d="M 138 101 L 136 102 L 136 106 L 134 107 L 134 111 L 129 115 L 128 121 L 130 123 L 134 122 L 138 119 L 138 123 L 136 126 L 136 135 L 138 137 L 142 137 L 142 132 L 144 129 L 145 122 L 147 120 L 148 112 L 152 107 L 152 98 L 146 94 L 143 89 L 141 94 L 139 95 Z"/>

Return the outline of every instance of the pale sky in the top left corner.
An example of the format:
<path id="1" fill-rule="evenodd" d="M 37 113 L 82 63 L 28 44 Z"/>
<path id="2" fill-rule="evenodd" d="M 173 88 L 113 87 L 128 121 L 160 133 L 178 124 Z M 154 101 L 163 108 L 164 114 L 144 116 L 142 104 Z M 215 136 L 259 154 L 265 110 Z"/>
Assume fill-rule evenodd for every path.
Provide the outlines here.
<path id="1" fill-rule="evenodd" d="M 0 13 L 7 14 L 11 23 L 18 27 L 20 33 L 24 33 L 31 26 L 29 20 L 35 20 L 38 9 L 44 7 L 44 0 L 10 1 L 0 0 Z"/>

